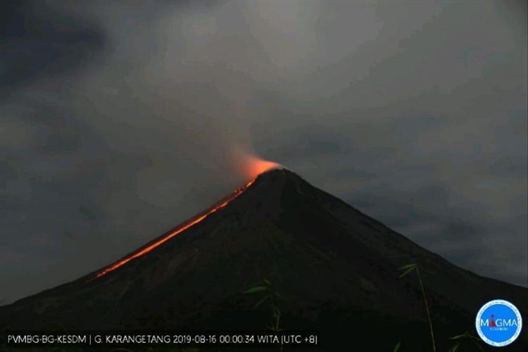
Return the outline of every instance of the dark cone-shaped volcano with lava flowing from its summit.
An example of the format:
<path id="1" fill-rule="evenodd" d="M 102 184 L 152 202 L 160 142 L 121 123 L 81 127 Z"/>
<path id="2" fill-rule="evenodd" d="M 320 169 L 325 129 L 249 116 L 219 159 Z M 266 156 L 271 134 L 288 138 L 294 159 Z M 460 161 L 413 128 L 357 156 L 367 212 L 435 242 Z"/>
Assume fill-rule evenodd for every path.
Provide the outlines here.
<path id="1" fill-rule="evenodd" d="M 458 268 L 281 169 L 106 268 L 1 307 L 0 325 L 263 330 L 269 308 L 243 292 L 266 280 L 282 297 L 281 327 L 320 332 L 317 351 L 392 351 L 398 341 L 401 351 L 430 351 L 420 284 L 399 277 L 409 263 L 420 268 L 437 351 L 474 332 L 492 299 L 527 318 L 526 288 Z M 504 350 L 527 347 L 524 329 Z"/>

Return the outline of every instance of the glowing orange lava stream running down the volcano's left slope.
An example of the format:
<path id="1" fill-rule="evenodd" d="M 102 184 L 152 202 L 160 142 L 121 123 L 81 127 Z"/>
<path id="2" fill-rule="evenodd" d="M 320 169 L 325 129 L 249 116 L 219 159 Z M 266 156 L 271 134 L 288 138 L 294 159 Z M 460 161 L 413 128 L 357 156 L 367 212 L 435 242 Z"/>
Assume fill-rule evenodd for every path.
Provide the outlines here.
<path id="1" fill-rule="evenodd" d="M 225 206 L 227 206 L 227 204 L 231 203 L 239 195 L 244 193 L 244 191 L 246 191 L 246 189 L 248 189 L 251 186 L 251 184 L 253 184 L 253 182 L 255 182 L 255 180 L 256 180 L 256 178 L 251 180 L 250 182 L 244 184 L 244 186 L 239 187 L 232 194 L 230 194 L 229 196 L 225 197 L 225 199 L 222 199 L 222 201 L 217 203 L 217 205 L 212 206 L 211 208 L 206 210 L 205 213 L 202 213 L 201 215 L 197 215 L 195 218 L 192 218 L 191 220 L 189 220 L 187 222 L 184 222 L 182 225 L 176 227 L 174 230 L 172 230 L 172 231 L 168 232 L 167 234 L 164 234 L 162 237 L 154 240 L 151 244 L 147 244 L 143 248 L 138 249 L 137 251 L 135 251 L 134 253 L 131 253 L 128 256 L 125 256 L 125 258 L 122 258 L 122 259 L 118 260 L 117 262 L 115 262 L 115 263 L 113 263 L 111 265 L 108 265 L 108 267 L 106 267 L 103 270 L 101 270 L 100 272 L 98 272 L 96 274 L 96 276 L 94 277 L 94 279 L 96 279 L 98 277 L 101 277 L 103 275 L 106 275 L 106 274 L 108 274 L 108 272 L 111 272 L 111 271 L 113 271 L 113 270 L 115 270 L 117 268 L 122 267 L 123 265 L 125 265 L 128 262 L 130 262 L 131 260 L 134 260 L 135 258 L 139 258 L 140 256 L 143 256 L 144 254 L 149 253 L 150 251 L 152 251 L 156 247 L 161 246 L 161 244 L 164 244 L 169 239 L 172 239 L 172 237 L 175 237 L 177 234 L 180 234 L 181 232 L 184 232 L 185 230 L 189 229 L 190 227 L 196 225 L 197 223 L 199 223 L 202 220 L 204 220 L 205 218 L 207 218 L 209 215 L 211 215 L 211 214 L 217 212 L 218 210 L 224 208 Z"/>

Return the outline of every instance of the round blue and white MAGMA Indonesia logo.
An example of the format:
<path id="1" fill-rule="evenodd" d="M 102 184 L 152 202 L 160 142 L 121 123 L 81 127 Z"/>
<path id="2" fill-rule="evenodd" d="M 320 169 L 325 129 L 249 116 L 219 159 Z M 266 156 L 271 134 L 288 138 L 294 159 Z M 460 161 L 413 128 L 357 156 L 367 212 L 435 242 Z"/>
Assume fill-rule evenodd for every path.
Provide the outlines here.
<path id="1" fill-rule="evenodd" d="M 521 313 L 513 303 L 503 299 L 484 304 L 474 323 L 482 341 L 496 347 L 511 344 L 522 329 Z"/>

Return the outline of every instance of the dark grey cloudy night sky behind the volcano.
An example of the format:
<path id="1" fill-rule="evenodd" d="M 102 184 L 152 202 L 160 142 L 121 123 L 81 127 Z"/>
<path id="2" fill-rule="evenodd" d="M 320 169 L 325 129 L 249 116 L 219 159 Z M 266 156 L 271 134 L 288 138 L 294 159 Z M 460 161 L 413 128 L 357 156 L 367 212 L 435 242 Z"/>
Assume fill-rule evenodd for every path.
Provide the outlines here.
<path id="1" fill-rule="evenodd" d="M 526 1 L 2 1 L 0 14 L 0 303 L 229 193 L 239 149 L 463 268 L 528 284 Z"/>

